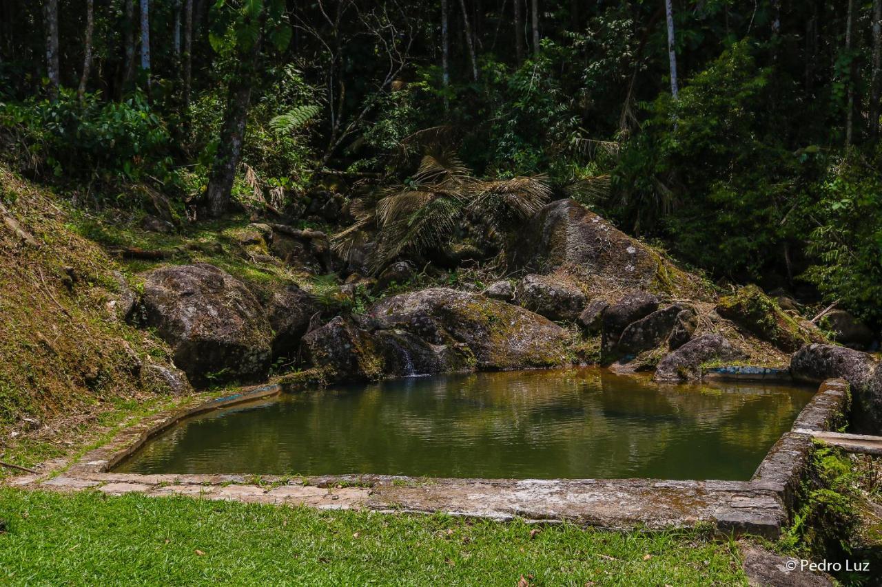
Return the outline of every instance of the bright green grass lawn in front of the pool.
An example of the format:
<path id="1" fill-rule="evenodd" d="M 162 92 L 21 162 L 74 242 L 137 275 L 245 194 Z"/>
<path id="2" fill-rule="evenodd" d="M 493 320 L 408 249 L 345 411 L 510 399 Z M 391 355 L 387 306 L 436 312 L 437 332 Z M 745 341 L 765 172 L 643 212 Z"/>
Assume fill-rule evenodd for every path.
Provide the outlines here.
<path id="1" fill-rule="evenodd" d="M 702 532 L 0 488 L 0 583 L 739 585 Z"/>

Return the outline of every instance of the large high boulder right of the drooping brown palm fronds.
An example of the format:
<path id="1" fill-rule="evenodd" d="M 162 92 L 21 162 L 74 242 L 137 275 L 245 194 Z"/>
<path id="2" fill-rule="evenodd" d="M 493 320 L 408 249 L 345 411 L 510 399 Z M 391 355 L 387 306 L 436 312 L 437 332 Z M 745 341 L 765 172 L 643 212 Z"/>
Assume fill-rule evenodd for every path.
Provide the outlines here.
<path id="1" fill-rule="evenodd" d="M 578 265 L 587 276 L 632 288 L 652 281 L 660 264 L 653 251 L 571 199 L 534 214 L 510 251 L 512 269 L 547 273 Z"/>

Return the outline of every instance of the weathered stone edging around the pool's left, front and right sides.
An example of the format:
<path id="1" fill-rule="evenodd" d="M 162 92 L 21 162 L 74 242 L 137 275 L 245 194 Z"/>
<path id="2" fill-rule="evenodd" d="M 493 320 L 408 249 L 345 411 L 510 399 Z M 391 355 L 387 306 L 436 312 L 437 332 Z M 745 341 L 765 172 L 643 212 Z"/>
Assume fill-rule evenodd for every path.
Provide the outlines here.
<path id="1" fill-rule="evenodd" d="M 669 479 L 437 479 L 389 475 L 143 475 L 108 472 L 153 436 L 180 420 L 221 407 L 272 398 L 286 390 L 268 384 L 215 398 L 187 410 L 168 411 L 126 428 L 91 450 L 67 471 L 11 479 L 19 487 L 105 494 L 190 495 L 213 500 L 288 503 L 318 509 L 445 512 L 459 516 L 661 530 L 714 524 L 726 534 L 774 539 L 788 523 L 796 491 L 809 465 L 811 432 L 843 421 L 848 383 L 828 379 L 799 413 L 790 432 L 766 454 L 750 481 Z"/>

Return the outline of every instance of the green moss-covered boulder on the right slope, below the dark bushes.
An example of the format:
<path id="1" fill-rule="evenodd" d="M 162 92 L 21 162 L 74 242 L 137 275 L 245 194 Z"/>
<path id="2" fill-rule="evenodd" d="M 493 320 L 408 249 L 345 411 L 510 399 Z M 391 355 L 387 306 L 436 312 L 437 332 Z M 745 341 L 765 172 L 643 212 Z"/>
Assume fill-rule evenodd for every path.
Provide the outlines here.
<path id="1" fill-rule="evenodd" d="M 735 294 L 721 298 L 716 311 L 745 331 L 788 353 L 818 337 L 800 326 L 757 286 L 744 286 Z"/>

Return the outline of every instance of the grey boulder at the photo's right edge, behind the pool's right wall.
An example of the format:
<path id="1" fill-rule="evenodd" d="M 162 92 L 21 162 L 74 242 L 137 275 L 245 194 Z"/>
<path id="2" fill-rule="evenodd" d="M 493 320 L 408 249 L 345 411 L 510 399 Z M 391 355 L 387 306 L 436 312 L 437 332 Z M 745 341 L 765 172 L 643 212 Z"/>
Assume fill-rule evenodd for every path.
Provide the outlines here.
<path id="1" fill-rule="evenodd" d="M 875 375 L 874 375 L 875 371 Z M 845 346 L 806 345 L 790 359 L 797 381 L 821 383 L 844 379 L 851 386 L 851 423 L 856 432 L 882 434 L 882 374 L 867 353 Z"/>

